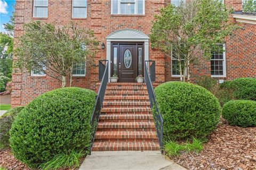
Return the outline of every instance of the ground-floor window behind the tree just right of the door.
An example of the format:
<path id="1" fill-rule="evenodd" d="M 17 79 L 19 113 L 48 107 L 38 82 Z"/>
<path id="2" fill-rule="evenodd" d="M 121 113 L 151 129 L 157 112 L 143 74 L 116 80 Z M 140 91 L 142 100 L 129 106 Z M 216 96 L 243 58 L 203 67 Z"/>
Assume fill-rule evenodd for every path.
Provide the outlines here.
<path id="1" fill-rule="evenodd" d="M 185 59 L 184 57 L 182 57 L 183 59 L 181 59 L 181 68 L 182 68 L 182 71 L 185 67 Z M 180 77 L 180 62 L 179 62 L 179 59 L 177 57 L 177 53 L 175 52 L 175 49 L 173 48 L 172 49 L 172 66 L 171 66 L 171 69 L 172 69 L 172 77 Z"/>

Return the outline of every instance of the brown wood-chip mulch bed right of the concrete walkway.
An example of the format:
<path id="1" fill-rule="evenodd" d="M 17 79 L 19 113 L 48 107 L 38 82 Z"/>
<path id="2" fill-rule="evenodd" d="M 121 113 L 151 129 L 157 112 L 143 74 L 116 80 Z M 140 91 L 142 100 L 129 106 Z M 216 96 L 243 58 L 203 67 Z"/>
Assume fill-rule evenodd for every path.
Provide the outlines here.
<path id="1" fill-rule="evenodd" d="M 230 126 L 222 120 L 199 154 L 172 159 L 187 169 L 256 169 L 256 128 Z"/>

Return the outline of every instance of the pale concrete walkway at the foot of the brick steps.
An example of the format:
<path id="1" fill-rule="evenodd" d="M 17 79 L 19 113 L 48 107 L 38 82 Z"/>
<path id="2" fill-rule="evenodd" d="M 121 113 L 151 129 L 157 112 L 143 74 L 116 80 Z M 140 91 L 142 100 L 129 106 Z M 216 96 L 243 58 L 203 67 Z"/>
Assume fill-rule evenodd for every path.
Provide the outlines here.
<path id="1" fill-rule="evenodd" d="M 94 151 L 88 155 L 79 170 L 85 169 L 152 169 L 185 170 L 186 168 L 165 159 L 160 151 Z"/>

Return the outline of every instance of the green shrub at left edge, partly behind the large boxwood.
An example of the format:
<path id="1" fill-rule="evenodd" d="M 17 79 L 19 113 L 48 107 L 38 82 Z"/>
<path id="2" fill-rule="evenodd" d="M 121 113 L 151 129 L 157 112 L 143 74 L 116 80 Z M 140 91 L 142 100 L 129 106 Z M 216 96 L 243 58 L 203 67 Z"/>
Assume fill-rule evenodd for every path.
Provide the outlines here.
<path id="1" fill-rule="evenodd" d="M 0 117 L 0 146 L 1 148 L 8 148 L 10 146 L 10 134 L 14 118 L 23 109 L 23 107 L 15 107 L 5 112 L 4 115 Z"/>

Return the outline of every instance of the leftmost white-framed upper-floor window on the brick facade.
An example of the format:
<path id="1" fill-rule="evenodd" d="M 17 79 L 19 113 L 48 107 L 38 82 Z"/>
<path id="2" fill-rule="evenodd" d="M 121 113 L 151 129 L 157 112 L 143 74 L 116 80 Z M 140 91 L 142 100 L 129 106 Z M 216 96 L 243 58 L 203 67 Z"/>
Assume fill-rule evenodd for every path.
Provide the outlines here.
<path id="1" fill-rule="evenodd" d="M 34 0 L 34 17 L 47 18 L 48 0 Z"/>

